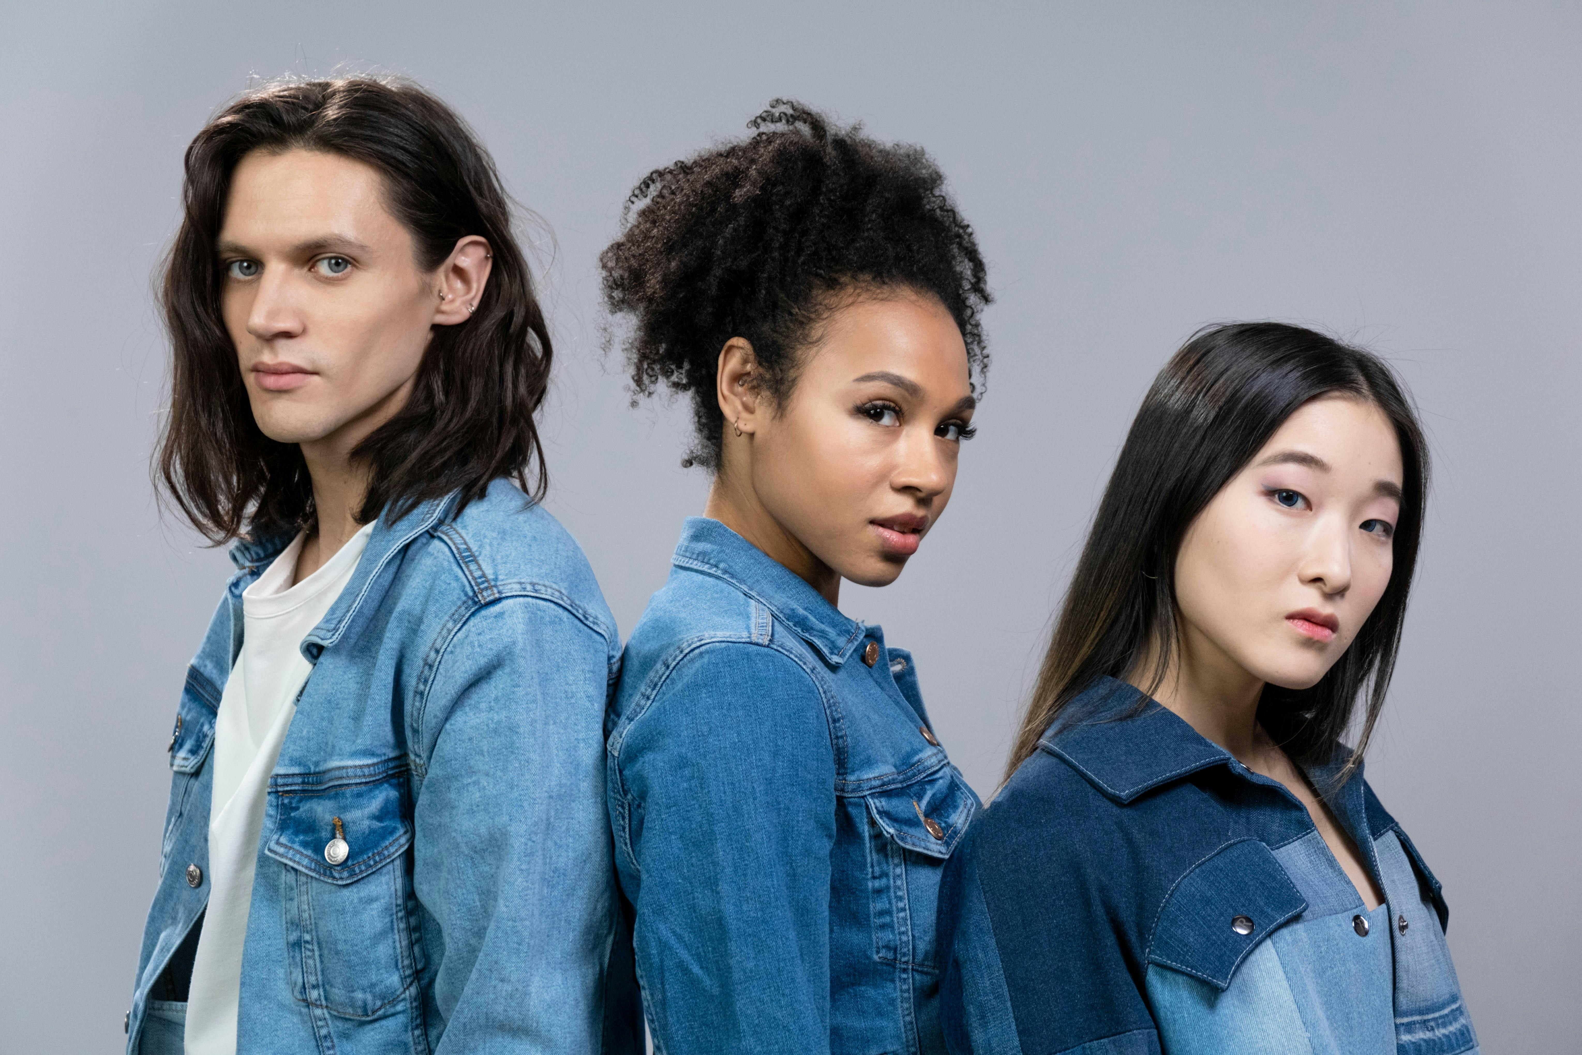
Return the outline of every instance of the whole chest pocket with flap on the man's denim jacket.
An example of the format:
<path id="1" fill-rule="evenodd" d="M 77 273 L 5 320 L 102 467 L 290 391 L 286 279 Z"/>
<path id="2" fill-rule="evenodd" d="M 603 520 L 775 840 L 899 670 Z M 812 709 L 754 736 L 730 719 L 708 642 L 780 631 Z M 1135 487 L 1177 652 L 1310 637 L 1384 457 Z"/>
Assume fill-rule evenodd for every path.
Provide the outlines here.
<path id="1" fill-rule="evenodd" d="M 269 780 L 264 853 L 280 870 L 296 1000 L 343 1019 L 405 1006 L 418 979 L 402 758 Z"/>

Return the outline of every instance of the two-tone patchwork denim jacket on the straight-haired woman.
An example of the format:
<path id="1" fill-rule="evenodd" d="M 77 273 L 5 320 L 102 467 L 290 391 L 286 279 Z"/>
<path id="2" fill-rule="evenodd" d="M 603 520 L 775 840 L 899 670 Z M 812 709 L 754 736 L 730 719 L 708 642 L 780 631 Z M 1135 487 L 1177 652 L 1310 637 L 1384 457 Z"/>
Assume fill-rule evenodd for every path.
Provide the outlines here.
<path id="1" fill-rule="evenodd" d="M 952 1052 L 1476 1052 L 1440 883 L 1349 756 L 1308 770 L 1372 913 L 1285 786 L 1114 679 L 968 832 L 940 902 Z"/>

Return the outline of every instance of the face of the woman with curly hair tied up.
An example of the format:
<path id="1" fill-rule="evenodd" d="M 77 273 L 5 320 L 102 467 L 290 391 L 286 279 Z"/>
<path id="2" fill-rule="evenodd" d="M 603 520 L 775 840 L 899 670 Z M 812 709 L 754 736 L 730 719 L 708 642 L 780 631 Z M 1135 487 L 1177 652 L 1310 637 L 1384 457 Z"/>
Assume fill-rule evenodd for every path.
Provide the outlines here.
<path id="1" fill-rule="evenodd" d="M 859 299 L 824 324 L 785 405 L 756 416 L 751 487 L 840 577 L 888 585 L 951 500 L 973 406 L 944 305 Z"/>

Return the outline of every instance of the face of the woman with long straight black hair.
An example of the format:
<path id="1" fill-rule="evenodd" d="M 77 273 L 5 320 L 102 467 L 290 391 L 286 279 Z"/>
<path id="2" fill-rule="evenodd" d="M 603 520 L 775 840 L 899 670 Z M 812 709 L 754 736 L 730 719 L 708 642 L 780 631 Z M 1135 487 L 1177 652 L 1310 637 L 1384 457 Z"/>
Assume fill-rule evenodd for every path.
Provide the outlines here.
<path id="1" fill-rule="evenodd" d="M 1193 520 L 1175 558 L 1182 650 L 1308 688 L 1389 585 L 1400 443 L 1373 403 L 1304 405 Z"/>

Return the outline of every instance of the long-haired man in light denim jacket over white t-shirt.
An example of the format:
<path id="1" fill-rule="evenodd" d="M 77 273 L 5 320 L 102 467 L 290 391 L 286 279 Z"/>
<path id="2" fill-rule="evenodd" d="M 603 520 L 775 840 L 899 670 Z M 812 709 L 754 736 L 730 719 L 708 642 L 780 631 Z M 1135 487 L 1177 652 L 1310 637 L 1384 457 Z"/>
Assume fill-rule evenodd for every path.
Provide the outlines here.
<path id="1" fill-rule="evenodd" d="M 174 720 L 128 1050 L 631 1044 L 619 641 L 536 503 L 551 343 L 489 155 L 353 78 L 248 93 L 185 172 L 158 470 L 239 573 Z"/>

